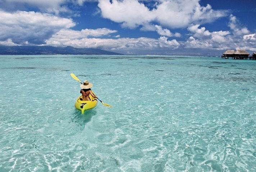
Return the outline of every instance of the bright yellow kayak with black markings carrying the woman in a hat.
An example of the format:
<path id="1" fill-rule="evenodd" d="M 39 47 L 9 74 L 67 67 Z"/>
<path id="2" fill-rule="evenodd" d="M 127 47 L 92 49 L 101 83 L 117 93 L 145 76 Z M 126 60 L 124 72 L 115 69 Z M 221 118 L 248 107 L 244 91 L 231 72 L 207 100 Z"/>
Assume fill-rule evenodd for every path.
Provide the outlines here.
<path id="1" fill-rule="evenodd" d="M 75 103 L 75 107 L 82 112 L 82 114 L 86 110 L 90 110 L 96 107 L 98 101 L 97 99 L 93 98 L 91 94 L 89 95 L 91 100 L 82 100 L 82 95 L 77 98 Z"/>

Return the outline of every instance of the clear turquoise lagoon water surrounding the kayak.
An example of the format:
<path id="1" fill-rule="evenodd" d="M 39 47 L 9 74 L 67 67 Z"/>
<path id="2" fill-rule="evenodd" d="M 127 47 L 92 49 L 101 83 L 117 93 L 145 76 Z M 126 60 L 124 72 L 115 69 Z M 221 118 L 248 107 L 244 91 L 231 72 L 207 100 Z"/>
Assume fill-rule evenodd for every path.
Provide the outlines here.
<path id="1" fill-rule="evenodd" d="M 0 172 L 256 171 L 256 61 L 0 56 Z M 81 81 L 98 103 L 81 114 Z"/>

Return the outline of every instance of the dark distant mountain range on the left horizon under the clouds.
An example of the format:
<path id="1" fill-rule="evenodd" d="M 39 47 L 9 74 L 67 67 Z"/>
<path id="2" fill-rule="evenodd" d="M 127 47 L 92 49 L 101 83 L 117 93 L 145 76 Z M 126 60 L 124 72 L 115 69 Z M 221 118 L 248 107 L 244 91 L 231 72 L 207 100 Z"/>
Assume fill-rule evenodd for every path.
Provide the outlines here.
<path id="1" fill-rule="evenodd" d="M 55 54 L 86 54 L 86 55 L 123 55 L 111 51 L 94 48 L 74 48 L 72 46 L 0 46 L 0 55 L 55 55 Z"/>

